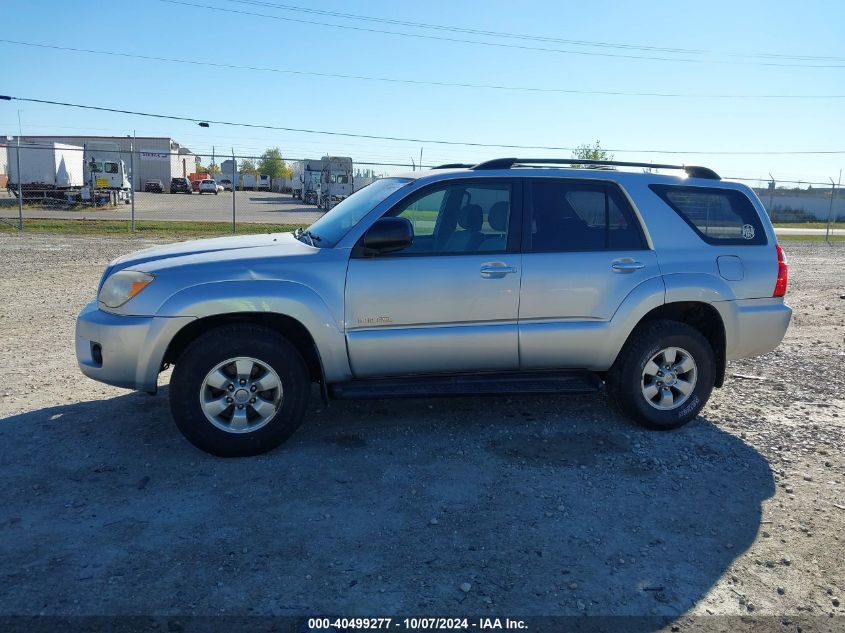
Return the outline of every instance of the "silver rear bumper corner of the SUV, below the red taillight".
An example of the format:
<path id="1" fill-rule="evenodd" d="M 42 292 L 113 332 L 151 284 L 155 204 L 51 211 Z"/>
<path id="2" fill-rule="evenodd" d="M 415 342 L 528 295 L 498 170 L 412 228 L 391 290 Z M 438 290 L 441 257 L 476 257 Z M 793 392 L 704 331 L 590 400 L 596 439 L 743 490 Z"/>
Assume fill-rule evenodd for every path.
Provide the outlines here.
<path id="1" fill-rule="evenodd" d="M 742 299 L 725 304 L 733 308 L 732 319 L 724 319 L 723 314 L 728 360 L 761 356 L 780 345 L 792 318 L 792 308 L 783 299 Z"/>

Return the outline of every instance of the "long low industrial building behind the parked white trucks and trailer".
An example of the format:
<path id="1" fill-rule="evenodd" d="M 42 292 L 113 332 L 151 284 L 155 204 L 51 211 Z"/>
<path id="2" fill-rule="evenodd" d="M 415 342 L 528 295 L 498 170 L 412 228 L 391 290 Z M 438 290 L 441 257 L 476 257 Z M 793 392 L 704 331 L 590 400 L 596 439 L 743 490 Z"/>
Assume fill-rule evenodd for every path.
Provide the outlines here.
<path id="1" fill-rule="evenodd" d="M 17 136 L 10 137 L 7 144 L 17 143 Z M 21 136 L 21 143 L 48 144 L 66 143 L 84 147 L 86 143 L 116 143 L 121 152 L 125 152 L 123 161 L 127 169 L 133 168 L 132 186 L 142 191 L 147 180 L 161 180 L 167 187 L 171 178 L 187 177 L 196 171 L 197 157 L 187 147 L 172 138 L 161 136 L 135 137 L 135 151 L 131 154 L 133 138 L 131 136 Z M 5 169 L 6 149 L 0 152 L 0 174 L 8 173 Z"/>

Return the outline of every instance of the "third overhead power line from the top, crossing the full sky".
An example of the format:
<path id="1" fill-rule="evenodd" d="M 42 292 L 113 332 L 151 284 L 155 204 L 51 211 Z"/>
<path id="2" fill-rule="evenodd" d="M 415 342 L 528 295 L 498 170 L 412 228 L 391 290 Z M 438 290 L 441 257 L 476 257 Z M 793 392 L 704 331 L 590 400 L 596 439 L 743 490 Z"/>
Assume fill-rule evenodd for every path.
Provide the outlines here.
<path id="1" fill-rule="evenodd" d="M 326 77 L 332 79 L 352 79 L 363 81 L 377 81 L 386 83 L 401 83 L 417 86 L 438 86 L 443 88 L 473 88 L 484 90 L 505 90 L 516 92 L 546 92 L 558 94 L 583 94 L 583 95 L 605 95 L 620 97 L 663 97 L 663 98 L 692 98 L 692 99 L 845 99 L 845 95 L 787 95 L 787 94 L 695 94 L 680 92 L 628 92 L 622 90 L 580 90 L 576 88 L 543 88 L 535 86 L 504 86 L 497 84 L 473 84 L 448 81 L 426 81 L 421 79 L 407 79 L 401 77 L 377 77 L 367 75 L 345 75 L 341 73 L 321 73 L 316 71 L 292 70 L 287 68 L 271 68 L 267 66 L 249 66 L 239 64 L 224 64 L 220 62 L 206 62 L 193 59 L 180 59 L 177 57 L 160 57 L 157 55 L 142 55 L 139 53 L 126 53 L 122 51 L 107 51 L 91 48 L 78 48 L 73 46 L 59 46 L 57 44 L 42 44 L 39 42 L 24 42 L 21 40 L 10 40 L 0 38 L 0 43 L 14 46 L 28 46 L 48 50 L 65 51 L 72 53 L 87 53 L 91 55 L 105 55 L 111 57 L 123 57 L 128 59 L 141 59 L 145 61 L 167 62 L 176 64 L 187 64 L 191 66 L 207 66 L 211 68 L 227 68 L 232 70 L 250 70 L 256 72 L 280 73 L 289 75 L 302 75 L 311 77 Z"/>

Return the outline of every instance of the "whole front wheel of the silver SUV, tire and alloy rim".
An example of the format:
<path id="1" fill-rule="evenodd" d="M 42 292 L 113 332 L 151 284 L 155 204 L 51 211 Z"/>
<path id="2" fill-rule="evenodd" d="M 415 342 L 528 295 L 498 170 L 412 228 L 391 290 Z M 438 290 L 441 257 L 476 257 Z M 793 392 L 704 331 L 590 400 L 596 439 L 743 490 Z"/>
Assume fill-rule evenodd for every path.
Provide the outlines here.
<path id="1" fill-rule="evenodd" d="M 310 380 L 297 349 L 272 330 L 216 328 L 176 363 L 170 411 L 194 446 L 220 457 L 258 455 L 302 424 Z"/>

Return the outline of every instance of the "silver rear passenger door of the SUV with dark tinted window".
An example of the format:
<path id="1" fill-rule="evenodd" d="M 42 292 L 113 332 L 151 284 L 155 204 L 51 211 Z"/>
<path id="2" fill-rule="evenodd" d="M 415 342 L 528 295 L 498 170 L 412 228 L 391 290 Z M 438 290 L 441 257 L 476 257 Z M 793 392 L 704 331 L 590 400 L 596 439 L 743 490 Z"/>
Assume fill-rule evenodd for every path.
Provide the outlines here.
<path id="1" fill-rule="evenodd" d="M 606 369 L 608 322 L 660 275 L 636 214 L 613 182 L 547 178 L 526 183 L 524 217 L 520 366 Z"/>

